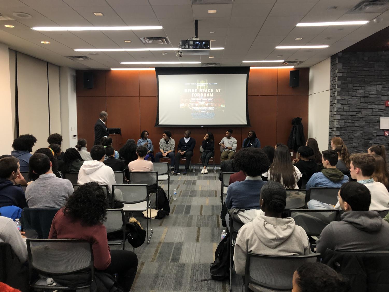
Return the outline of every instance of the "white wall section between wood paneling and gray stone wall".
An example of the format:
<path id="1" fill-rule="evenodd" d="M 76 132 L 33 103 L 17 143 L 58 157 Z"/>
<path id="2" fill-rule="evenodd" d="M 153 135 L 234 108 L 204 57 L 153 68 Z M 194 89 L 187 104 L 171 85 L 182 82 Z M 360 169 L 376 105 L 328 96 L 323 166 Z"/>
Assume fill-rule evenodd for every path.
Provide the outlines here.
<path id="1" fill-rule="evenodd" d="M 308 138 L 320 151 L 328 149 L 330 69 L 331 58 L 309 68 Z"/>

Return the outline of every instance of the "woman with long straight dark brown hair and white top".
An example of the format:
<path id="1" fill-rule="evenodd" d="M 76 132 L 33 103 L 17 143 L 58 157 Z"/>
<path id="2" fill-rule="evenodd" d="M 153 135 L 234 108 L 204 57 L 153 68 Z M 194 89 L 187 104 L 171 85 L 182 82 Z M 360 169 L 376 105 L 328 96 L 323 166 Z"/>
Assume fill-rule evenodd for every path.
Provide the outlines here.
<path id="1" fill-rule="evenodd" d="M 270 169 L 262 174 L 268 181 L 277 181 L 287 189 L 298 188 L 298 181 L 302 174 L 300 170 L 292 164 L 289 148 L 281 144 L 274 151 L 274 159 Z"/>

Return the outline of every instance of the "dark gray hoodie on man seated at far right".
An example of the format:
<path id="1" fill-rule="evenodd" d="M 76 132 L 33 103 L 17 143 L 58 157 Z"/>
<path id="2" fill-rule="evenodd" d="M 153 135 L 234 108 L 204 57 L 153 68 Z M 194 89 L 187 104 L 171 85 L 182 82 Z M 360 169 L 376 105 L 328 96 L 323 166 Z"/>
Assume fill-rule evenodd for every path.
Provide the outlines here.
<path id="1" fill-rule="evenodd" d="M 349 211 L 320 234 L 316 251 L 389 252 L 389 224 L 375 211 Z"/>

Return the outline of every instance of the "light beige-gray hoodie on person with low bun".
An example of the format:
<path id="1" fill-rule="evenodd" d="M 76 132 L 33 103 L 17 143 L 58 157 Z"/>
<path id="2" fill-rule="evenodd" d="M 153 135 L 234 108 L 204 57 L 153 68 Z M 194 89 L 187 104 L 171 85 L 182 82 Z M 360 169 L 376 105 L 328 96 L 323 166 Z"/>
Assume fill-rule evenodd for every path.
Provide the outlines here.
<path id="1" fill-rule="evenodd" d="M 389 225 L 389 224 L 388 224 Z M 238 231 L 235 243 L 234 265 L 244 275 L 248 252 L 260 255 L 309 255 L 308 236 L 293 218 L 274 218 L 261 212 L 253 221 Z"/>

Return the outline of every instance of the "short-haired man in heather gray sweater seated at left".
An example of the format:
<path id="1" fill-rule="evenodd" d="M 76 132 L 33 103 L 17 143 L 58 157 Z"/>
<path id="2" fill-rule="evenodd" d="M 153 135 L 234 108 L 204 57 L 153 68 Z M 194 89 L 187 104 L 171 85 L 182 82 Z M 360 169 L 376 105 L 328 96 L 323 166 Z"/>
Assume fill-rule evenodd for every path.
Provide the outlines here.
<path id="1" fill-rule="evenodd" d="M 30 158 L 30 170 L 39 178 L 26 188 L 29 208 L 62 208 L 74 192 L 72 183 L 68 179 L 57 178 L 52 167 L 49 157 L 43 153 L 34 153 Z"/>

